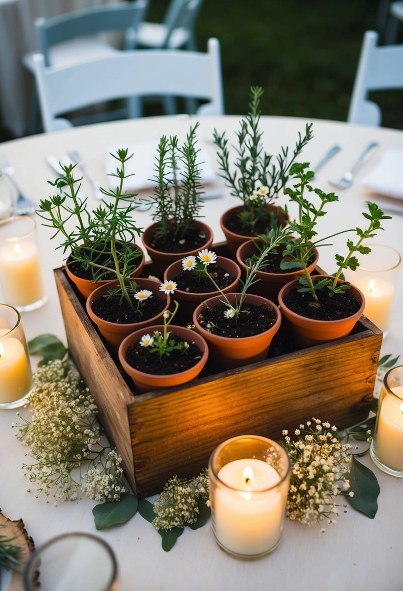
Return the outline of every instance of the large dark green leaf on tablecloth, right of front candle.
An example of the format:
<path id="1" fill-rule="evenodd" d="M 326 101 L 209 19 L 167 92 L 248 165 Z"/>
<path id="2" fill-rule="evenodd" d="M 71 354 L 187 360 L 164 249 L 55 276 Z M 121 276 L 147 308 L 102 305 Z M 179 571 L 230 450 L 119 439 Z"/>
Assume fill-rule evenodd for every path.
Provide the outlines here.
<path id="1" fill-rule="evenodd" d="M 350 504 L 373 519 L 378 511 L 379 488 L 375 474 L 353 456 L 350 472 L 346 478 L 350 481 L 350 491 L 354 496 L 347 496 Z"/>

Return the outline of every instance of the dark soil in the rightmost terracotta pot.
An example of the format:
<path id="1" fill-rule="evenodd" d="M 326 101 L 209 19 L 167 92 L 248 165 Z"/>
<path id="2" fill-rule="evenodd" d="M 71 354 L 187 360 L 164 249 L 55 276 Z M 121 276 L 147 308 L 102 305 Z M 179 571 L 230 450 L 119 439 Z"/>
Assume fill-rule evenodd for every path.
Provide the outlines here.
<path id="1" fill-rule="evenodd" d="M 333 294 L 329 297 L 328 290 L 317 290 L 318 301 L 310 293 L 300 293 L 295 288 L 284 296 L 285 305 L 305 318 L 312 320 L 341 320 L 352 316 L 360 309 L 360 302 L 350 296 L 348 290 L 344 294 Z"/>

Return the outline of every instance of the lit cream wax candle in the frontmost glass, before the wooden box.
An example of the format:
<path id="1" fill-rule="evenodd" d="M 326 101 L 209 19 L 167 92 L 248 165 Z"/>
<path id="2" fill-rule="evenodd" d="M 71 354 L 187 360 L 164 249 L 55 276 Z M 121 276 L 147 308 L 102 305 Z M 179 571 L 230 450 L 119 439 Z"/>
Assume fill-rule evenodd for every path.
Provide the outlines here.
<path id="1" fill-rule="evenodd" d="M 231 487 L 215 491 L 213 519 L 219 543 L 242 556 L 259 556 L 274 548 L 284 517 L 280 491 L 268 490 L 280 482 L 276 470 L 262 460 L 242 459 L 223 466 L 218 477 Z"/>

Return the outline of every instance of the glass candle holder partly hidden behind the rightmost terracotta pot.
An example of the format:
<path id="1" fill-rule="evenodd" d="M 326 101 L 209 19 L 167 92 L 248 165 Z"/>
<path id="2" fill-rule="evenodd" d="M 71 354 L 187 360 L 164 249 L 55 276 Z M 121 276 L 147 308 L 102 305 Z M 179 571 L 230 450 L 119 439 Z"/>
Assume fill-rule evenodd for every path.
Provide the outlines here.
<path id="1" fill-rule="evenodd" d="M 401 256 L 391 246 L 366 244 L 371 252 L 363 256 L 360 266 L 347 269 L 346 279 L 358 287 L 365 297 L 365 316 L 388 334 L 395 297 L 396 279 Z"/>

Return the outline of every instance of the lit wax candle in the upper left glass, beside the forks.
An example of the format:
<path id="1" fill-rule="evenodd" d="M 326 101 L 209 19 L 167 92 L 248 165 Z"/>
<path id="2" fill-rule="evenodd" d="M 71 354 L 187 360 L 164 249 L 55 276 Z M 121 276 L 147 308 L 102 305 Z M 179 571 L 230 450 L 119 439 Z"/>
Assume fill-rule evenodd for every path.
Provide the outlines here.
<path id="1" fill-rule="evenodd" d="M 0 251 L 0 281 L 12 306 L 27 306 L 44 296 L 37 248 L 30 242 L 9 242 Z"/>

